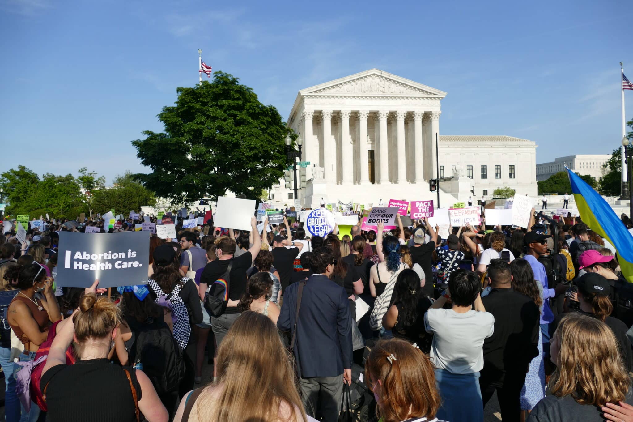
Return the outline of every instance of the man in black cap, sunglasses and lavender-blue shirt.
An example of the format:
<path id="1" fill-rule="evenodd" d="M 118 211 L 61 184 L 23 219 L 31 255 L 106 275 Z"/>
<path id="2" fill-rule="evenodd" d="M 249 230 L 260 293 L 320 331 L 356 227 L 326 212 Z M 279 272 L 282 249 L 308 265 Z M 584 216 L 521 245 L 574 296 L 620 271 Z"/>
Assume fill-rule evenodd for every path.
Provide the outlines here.
<path id="1" fill-rule="evenodd" d="M 547 239 L 550 235 L 544 235 L 538 232 L 527 232 L 523 236 L 523 245 L 525 247 L 525 256 L 523 259 L 530 264 L 532 271 L 534 271 L 534 280 L 541 283 L 543 287 L 543 311 L 541 313 L 541 334 L 543 338 L 543 352 L 544 356 L 549 357 L 549 323 L 554 321 L 554 314 L 549 307 L 550 298 L 556 297 L 565 293 L 567 287 L 563 283 L 558 283 L 554 289 L 549 289 L 548 276 L 545 271 L 545 266 L 539 263 L 539 257 L 541 255 L 548 254 Z"/>

